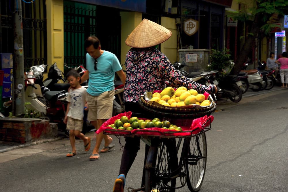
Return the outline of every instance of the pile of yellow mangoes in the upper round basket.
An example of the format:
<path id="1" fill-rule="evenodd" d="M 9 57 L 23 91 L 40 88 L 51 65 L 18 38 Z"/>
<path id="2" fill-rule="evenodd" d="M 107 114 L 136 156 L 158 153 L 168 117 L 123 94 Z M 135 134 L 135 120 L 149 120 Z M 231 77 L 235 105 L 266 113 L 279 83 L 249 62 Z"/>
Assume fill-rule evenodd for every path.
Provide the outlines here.
<path id="1" fill-rule="evenodd" d="M 210 100 L 205 100 L 203 94 L 198 94 L 194 89 L 187 90 L 179 87 L 176 91 L 172 87 L 166 87 L 161 93 L 155 92 L 150 101 L 155 101 L 167 107 L 181 107 L 189 104 L 209 106 Z"/>

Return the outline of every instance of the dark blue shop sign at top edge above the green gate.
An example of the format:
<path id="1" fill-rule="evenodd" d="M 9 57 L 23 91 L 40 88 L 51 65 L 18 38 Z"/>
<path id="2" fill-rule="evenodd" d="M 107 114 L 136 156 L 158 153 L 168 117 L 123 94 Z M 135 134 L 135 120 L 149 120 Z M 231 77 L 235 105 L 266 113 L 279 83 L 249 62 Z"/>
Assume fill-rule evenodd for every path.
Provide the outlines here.
<path id="1" fill-rule="evenodd" d="M 146 12 L 146 0 L 74 0 L 82 3 L 93 5 L 103 5 L 107 7 L 115 7 L 118 9 L 126 9 L 130 11 Z"/>

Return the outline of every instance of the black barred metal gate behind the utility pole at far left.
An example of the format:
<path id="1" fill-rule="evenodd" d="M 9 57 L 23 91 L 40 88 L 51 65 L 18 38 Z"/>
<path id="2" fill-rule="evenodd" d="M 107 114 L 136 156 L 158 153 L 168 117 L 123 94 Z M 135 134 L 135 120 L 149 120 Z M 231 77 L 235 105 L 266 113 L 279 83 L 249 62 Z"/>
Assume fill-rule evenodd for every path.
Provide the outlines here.
<path id="1" fill-rule="evenodd" d="M 24 68 L 47 64 L 46 0 L 22 1 Z M 14 1 L 0 1 L 0 53 L 14 52 Z"/>

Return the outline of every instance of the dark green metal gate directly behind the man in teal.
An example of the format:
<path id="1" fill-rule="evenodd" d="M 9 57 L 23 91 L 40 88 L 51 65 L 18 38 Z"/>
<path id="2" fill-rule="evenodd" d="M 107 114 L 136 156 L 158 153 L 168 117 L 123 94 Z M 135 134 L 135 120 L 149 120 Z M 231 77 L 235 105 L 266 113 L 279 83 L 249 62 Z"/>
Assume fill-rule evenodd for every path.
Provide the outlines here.
<path id="1" fill-rule="evenodd" d="M 104 27 L 105 26 L 105 27 Z M 64 1 L 64 62 L 69 67 L 86 67 L 84 41 L 97 36 L 103 50 L 120 60 L 121 18 L 118 9 Z M 65 74 L 69 69 L 64 69 Z"/>

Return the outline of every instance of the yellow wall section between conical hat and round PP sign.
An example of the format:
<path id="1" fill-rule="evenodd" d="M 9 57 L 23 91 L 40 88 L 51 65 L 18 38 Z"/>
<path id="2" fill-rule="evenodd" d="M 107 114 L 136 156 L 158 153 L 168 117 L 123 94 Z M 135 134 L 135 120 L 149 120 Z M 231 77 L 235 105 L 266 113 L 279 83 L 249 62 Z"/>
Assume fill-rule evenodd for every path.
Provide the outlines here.
<path id="1" fill-rule="evenodd" d="M 161 17 L 161 25 L 172 32 L 171 37 L 161 43 L 161 52 L 168 57 L 170 62 L 177 62 L 177 26 L 175 18 Z"/>

